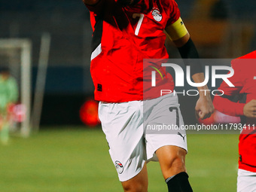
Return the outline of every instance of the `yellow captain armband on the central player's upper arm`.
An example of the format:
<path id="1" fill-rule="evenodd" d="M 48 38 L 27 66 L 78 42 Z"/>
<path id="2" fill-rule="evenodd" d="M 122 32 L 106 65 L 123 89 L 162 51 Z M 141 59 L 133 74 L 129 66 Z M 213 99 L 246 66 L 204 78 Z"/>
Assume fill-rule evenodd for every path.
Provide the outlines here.
<path id="1" fill-rule="evenodd" d="M 175 21 L 175 23 L 172 23 L 171 25 L 167 26 L 165 30 L 172 41 L 176 41 L 179 38 L 183 38 L 184 35 L 187 34 L 187 29 L 184 26 L 181 17 L 179 17 L 178 20 Z"/>

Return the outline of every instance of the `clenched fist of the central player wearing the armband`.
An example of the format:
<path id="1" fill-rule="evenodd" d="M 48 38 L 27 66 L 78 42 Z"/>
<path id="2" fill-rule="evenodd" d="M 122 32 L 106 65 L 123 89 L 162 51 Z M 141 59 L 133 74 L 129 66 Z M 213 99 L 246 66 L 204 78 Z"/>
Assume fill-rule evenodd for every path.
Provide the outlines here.
<path id="1" fill-rule="evenodd" d="M 197 119 L 206 119 L 211 117 L 211 114 L 214 112 L 215 108 L 212 104 L 212 99 L 209 94 L 202 95 L 200 98 L 197 100 L 197 105 L 196 105 L 196 116 Z"/>

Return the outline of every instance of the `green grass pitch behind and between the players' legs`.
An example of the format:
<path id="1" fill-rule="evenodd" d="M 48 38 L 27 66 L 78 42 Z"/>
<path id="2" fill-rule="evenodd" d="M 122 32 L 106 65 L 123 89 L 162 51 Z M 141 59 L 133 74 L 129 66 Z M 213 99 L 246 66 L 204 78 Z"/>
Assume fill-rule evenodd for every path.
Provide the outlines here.
<path id="1" fill-rule="evenodd" d="M 195 192 L 236 191 L 238 135 L 187 136 L 186 164 Z M 97 128 L 59 127 L 0 145 L 1 192 L 120 192 Z M 167 191 L 158 163 L 148 163 L 149 192 Z"/>

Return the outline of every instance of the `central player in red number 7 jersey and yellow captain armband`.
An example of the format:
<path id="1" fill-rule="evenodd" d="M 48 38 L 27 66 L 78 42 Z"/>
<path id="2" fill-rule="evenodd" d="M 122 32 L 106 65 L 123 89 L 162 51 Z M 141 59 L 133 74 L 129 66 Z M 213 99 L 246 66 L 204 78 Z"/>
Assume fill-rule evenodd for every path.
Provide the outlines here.
<path id="1" fill-rule="evenodd" d="M 183 123 L 178 99 L 173 94 L 143 101 L 143 59 L 169 58 L 164 31 L 182 58 L 199 57 L 178 5 L 174 0 L 83 2 L 90 10 L 93 27 L 90 71 L 95 99 L 100 101 L 99 119 L 123 190 L 148 191 L 145 162 L 159 160 L 169 191 L 192 191 L 184 164 L 185 133 L 145 134 L 143 125 L 162 117 L 169 123 Z M 191 75 L 195 83 L 204 81 L 200 66 L 191 66 Z M 173 90 L 171 79 L 169 84 Z M 143 102 L 149 103 L 147 108 L 143 108 Z M 161 110 L 154 111 L 155 108 Z M 195 109 L 202 119 L 212 114 L 209 93 L 200 91 Z M 147 117 L 143 116 L 145 111 Z"/>

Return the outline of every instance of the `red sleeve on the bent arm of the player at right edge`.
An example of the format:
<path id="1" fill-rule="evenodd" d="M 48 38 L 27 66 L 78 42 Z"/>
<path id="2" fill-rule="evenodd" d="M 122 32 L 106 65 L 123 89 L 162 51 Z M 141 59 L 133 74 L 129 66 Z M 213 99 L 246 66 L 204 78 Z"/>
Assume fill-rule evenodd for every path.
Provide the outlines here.
<path id="1" fill-rule="evenodd" d="M 239 65 L 239 62 L 236 62 L 236 59 L 232 62 L 232 68 L 234 69 L 234 75 L 231 78 L 228 78 L 229 81 L 235 87 L 229 87 L 225 81 L 221 83 L 221 86 L 218 90 L 223 90 L 225 96 L 236 96 L 239 95 L 244 84 L 244 75 L 242 75 L 242 66 Z M 244 103 L 232 102 L 230 99 L 224 98 L 222 96 L 215 96 L 213 104 L 218 111 L 221 111 L 224 114 L 231 116 L 242 116 Z"/>

